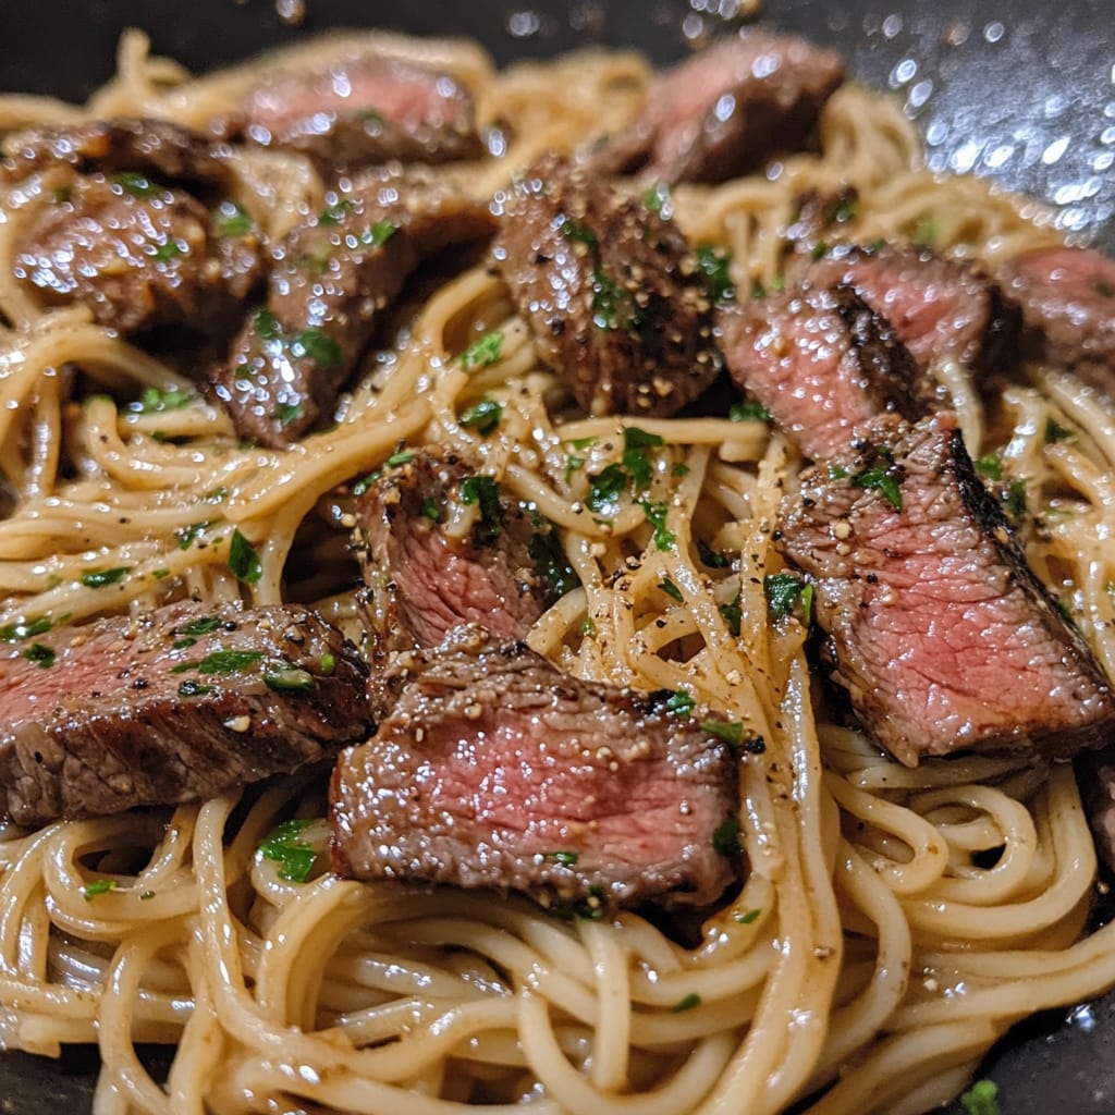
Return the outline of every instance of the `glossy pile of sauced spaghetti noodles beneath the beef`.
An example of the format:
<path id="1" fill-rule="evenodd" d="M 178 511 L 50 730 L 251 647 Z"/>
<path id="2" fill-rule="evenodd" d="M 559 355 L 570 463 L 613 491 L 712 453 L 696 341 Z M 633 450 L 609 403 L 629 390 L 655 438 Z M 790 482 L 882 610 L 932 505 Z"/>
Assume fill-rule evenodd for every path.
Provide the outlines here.
<path id="1" fill-rule="evenodd" d="M 477 197 L 543 151 L 622 127 L 650 77 L 622 54 L 496 74 L 469 45 L 361 41 L 445 67 L 482 123 L 506 125 L 504 158 L 446 172 Z M 0 128 L 124 114 L 200 126 L 258 72 L 194 79 L 133 32 L 87 106 L 6 97 Z M 920 169 L 917 135 L 882 96 L 842 88 L 821 139 L 820 155 L 673 192 L 690 240 L 730 250 L 740 298 L 777 281 L 780 230 L 809 188 L 859 191 L 843 234 L 860 242 L 929 230 L 938 250 L 991 261 L 1057 240 L 1032 203 Z M 269 235 L 322 204 L 295 156 L 239 155 L 236 177 Z M 685 689 L 766 753 L 739 764 L 746 882 L 691 947 L 629 912 L 571 920 L 516 896 L 342 881 L 324 856 L 310 881 L 285 881 L 259 847 L 285 817 L 324 817 L 310 776 L 173 812 L 0 827 L 0 1044 L 57 1056 L 97 1043 L 99 1115 L 524 1101 L 540 1115 L 762 1115 L 809 1096 L 813 1115 L 914 1115 L 961 1090 L 1020 1017 L 1115 983 L 1115 928 L 1082 935 L 1096 861 L 1069 766 L 973 756 L 909 770 L 815 719 L 805 632 L 772 623 L 763 591 L 799 464 L 777 432 L 640 420 L 663 439 L 650 497 L 676 545 L 655 544 L 639 506 L 594 521 L 588 477 L 620 458 L 630 421 L 553 405 L 553 376 L 479 266 L 400 311 L 397 345 L 368 360 L 334 427 L 289 452 L 244 447 L 200 398 L 129 405 L 193 385 L 85 310 L 43 312 L 17 288 L 11 245 L 35 190 L 17 187 L 0 220 L 0 474 L 18 496 L 0 520 L 0 627 L 184 597 L 295 600 L 359 639 L 342 485 L 437 443 L 561 530 L 582 586 L 539 621 L 536 650 L 582 678 Z M 466 368 L 460 353 L 494 330 L 498 357 Z M 999 455 L 1025 486 L 1036 571 L 1115 673 L 1115 415 L 1056 369 L 1031 369 L 987 413 L 961 369 L 941 374 L 972 456 Z M 487 436 L 459 420 L 483 397 L 503 406 Z M 1047 443 L 1049 419 L 1076 436 Z M 229 569 L 234 530 L 260 555 L 254 584 Z M 727 568 L 701 563 L 698 541 Z M 81 582 L 103 569 L 126 574 Z M 326 823 L 306 838 L 324 852 Z M 149 1041 L 177 1046 L 165 1087 L 137 1058 Z"/>

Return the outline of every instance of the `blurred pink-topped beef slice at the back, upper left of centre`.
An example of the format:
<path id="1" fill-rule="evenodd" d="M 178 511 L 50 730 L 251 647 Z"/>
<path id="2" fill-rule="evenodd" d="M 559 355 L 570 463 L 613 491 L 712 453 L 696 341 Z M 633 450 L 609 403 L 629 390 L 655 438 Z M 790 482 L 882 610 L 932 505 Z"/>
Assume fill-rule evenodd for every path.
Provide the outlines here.
<path id="1" fill-rule="evenodd" d="M 239 125 L 253 143 L 301 152 L 327 175 L 485 153 L 473 99 L 458 81 L 378 55 L 266 77 L 249 94 Z"/>

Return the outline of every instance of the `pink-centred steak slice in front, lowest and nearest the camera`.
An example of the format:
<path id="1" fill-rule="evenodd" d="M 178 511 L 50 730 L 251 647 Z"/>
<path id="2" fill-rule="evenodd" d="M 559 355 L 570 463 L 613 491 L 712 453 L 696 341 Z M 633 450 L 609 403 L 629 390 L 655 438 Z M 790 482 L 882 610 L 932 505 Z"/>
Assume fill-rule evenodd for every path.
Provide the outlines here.
<path id="1" fill-rule="evenodd" d="M 340 875 L 600 909 L 716 899 L 731 869 L 714 833 L 738 793 L 728 748 L 688 717 L 474 636 L 418 657 L 342 754 L 330 806 Z"/>

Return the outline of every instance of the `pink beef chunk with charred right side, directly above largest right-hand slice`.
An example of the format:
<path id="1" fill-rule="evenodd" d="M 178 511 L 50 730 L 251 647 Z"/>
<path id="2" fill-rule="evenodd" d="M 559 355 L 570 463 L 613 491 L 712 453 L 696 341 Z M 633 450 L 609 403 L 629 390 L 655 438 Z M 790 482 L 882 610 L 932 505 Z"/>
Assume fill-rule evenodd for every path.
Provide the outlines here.
<path id="1" fill-rule="evenodd" d="M 809 457 L 845 448 L 883 411 L 917 418 L 931 403 L 909 351 L 847 288 L 802 285 L 720 313 L 736 386 Z"/>

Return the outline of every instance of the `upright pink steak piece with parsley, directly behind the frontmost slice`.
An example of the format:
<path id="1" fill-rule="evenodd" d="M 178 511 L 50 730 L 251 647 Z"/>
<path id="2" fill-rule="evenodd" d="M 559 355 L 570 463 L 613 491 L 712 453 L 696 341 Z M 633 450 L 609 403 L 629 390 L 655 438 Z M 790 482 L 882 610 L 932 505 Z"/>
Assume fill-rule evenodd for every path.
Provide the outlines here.
<path id="1" fill-rule="evenodd" d="M 468 507 L 472 529 L 452 537 L 446 526 Z M 436 647 L 462 623 L 522 639 L 549 603 L 532 556 L 546 527 L 454 454 L 428 447 L 386 469 L 356 515 L 376 661 Z"/>

